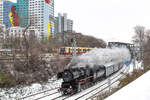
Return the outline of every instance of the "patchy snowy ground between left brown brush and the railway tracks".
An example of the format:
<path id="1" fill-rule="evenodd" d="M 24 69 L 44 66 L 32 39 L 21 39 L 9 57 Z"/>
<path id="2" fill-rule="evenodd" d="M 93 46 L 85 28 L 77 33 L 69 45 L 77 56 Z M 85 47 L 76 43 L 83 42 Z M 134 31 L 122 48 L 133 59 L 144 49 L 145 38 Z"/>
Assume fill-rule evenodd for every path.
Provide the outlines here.
<path id="1" fill-rule="evenodd" d="M 56 80 L 56 77 L 53 77 L 48 80 L 48 83 L 43 85 L 35 83 L 23 88 L 11 88 L 9 90 L 0 89 L 0 100 L 16 100 L 44 90 L 60 87 L 61 82 L 62 80 Z"/>

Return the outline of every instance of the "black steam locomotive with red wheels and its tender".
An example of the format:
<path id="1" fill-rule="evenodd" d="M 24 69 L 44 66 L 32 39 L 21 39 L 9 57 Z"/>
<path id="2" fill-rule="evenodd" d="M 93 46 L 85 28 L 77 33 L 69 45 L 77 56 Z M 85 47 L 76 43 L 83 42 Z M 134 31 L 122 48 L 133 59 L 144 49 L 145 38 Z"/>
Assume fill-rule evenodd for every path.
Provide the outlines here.
<path id="1" fill-rule="evenodd" d="M 81 89 L 85 89 L 92 85 L 98 78 L 102 78 L 105 73 L 104 66 L 88 66 L 81 68 L 69 68 L 64 72 L 58 73 L 57 77 L 63 79 L 60 91 L 64 94 L 74 94 Z"/>

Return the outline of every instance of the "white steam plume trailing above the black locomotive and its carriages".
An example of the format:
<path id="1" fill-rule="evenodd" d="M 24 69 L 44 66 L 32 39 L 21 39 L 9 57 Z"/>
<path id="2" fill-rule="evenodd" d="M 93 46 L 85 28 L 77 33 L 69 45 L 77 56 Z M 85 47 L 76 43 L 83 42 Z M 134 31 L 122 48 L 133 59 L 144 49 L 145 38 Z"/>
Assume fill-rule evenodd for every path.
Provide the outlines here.
<path id="1" fill-rule="evenodd" d="M 127 48 L 95 48 L 88 53 L 72 59 L 68 67 L 85 67 L 94 64 L 103 65 L 109 62 L 121 63 L 130 61 L 131 55 Z"/>

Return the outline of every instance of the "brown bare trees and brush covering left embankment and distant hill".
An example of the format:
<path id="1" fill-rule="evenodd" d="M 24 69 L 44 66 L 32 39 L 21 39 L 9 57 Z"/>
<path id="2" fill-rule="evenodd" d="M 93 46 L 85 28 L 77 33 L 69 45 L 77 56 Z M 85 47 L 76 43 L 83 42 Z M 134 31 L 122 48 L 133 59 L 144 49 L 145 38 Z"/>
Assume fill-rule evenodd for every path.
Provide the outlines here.
<path id="1" fill-rule="evenodd" d="M 12 58 L 0 61 L 0 88 L 47 82 L 50 77 L 62 71 L 71 58 L 57 55 L 52 59 L 46 58 L 45 54 L 58 53 L 56 48 L 61 46 L 71 46 L 71 38 L 75 37 L 77 46 L 106 46 L 102 39 L 71 32 L 58 33 L 50 40 L 41 41 L 36 35 L 27 35 L 28 29 L 29 27 L 24 30 L 22 37 L 7 36 L 2 45 L 3 49 L 12 50 Z M 0 32 L 8 34 L 9 31 L 0 29 Z"/>

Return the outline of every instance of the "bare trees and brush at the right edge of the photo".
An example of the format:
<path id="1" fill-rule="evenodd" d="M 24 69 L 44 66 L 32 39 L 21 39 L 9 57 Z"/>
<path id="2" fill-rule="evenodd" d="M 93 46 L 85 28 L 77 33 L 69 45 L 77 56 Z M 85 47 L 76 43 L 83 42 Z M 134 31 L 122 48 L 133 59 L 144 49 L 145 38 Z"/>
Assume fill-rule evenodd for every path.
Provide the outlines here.
<path id="1" fill-rule="evenodd" d="M 134 43 L 136 43 L 143 52 L 139 52 L 140 59 L 143 60 L 144 66 L 150 66 L 150 29 L 146 29 L 144 26 L 134 27 L 135 36 L 133 37 Z"/>

